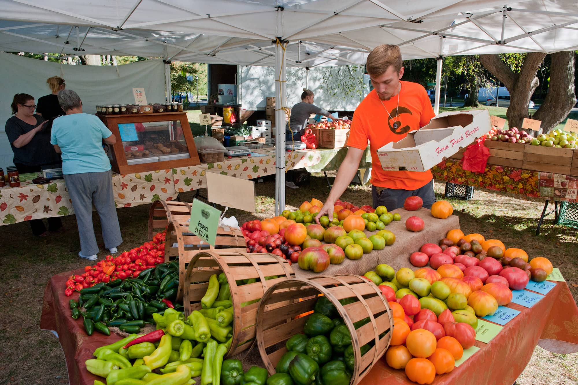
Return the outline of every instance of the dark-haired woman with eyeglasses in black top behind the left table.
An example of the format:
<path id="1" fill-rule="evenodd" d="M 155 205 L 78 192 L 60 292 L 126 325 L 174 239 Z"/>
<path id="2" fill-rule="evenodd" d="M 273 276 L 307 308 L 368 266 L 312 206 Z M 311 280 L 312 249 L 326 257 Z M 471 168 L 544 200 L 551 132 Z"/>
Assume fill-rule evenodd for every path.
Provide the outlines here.
<path id="1" fill-rule="evenodd" d="M 45 130 L 46 120 L 35 114 L 34 97 L 28 94 L 16 94 L 12 101 L 13 117 L 6 121 L 4 131 L 8 136 L 14 153 L 13 162 L 18 173 L 40 172 L 43 165 L 58 163 L 60 157 L 50 145 L 50 132 Z M 42 219 L 30 221 L 32 234 L 47 236 Z M 60 217 L 48 219 L 49 231 L 64 231 Z"/>

